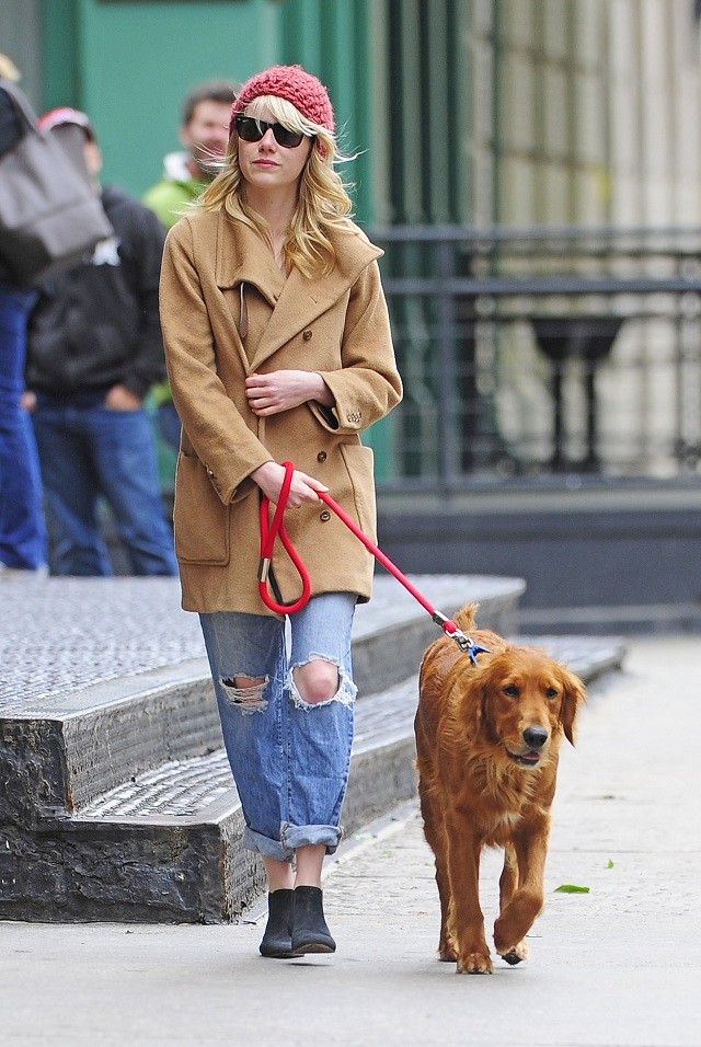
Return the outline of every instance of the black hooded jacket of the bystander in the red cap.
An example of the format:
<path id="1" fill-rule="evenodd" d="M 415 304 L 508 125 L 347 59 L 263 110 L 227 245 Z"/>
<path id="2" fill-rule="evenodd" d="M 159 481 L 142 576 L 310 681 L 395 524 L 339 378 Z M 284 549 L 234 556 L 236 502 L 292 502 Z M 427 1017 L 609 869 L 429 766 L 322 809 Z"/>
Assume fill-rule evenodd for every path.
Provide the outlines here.
<path id="1" fill-rule="evenodd" d="M 45 285 L 30 318 L 26 384 L 69 396 L 122 383 L 142 399 L 165 376 L 158 283 L 165 229 L 112 186 L 102 204 L 116 237 L 92 262 Z"/>

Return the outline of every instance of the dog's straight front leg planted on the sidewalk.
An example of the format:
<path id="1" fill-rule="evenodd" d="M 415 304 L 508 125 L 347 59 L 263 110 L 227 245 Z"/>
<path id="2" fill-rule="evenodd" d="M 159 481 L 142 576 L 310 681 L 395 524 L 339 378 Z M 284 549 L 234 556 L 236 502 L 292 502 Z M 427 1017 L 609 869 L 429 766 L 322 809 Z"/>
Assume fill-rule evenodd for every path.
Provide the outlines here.
<path id="1" fill-rule="evenodd" d="M 446 816 L 448 877 L 450 881 L 450 936 L 456 944 L 458 974 L 491 975 L 492 960 L 480 908 L 480 852 L 482 840 L 469 816 Z"/>

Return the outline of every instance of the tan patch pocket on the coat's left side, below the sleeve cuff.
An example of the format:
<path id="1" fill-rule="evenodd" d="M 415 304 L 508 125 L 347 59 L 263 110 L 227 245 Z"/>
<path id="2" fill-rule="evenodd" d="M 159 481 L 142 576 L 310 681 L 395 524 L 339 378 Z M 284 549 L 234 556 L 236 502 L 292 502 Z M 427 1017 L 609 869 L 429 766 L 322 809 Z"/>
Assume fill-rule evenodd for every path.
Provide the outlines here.
<path id="1" fill-rule="evenodd" d="M 181 563 L 229 563 L 229 513 L 198 458 L 180 455 L 175 473 L 173 531 Z"/>

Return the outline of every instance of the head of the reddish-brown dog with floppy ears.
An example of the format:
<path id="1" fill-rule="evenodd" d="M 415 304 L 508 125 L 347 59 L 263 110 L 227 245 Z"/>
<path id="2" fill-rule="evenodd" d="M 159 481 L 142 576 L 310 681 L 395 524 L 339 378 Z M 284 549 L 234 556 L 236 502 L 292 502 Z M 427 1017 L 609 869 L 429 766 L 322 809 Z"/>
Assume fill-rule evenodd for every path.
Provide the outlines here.
<path id="1" fill-rule="evenodd" d="M 574 745 L 584 684 L 538 647 L 507 647 L 475 671 L 479 726 L 509 761 L 537 768 L 560 741 Z"/>

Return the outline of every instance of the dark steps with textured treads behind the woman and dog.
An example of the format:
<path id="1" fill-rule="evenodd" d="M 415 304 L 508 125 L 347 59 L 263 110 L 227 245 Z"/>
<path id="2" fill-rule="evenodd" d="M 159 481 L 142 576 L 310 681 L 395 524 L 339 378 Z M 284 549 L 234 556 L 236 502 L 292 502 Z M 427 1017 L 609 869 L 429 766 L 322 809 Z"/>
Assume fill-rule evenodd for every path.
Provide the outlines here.
<path id="1" fill-rule="evenodd" d="M 418 576 L 441 611 L 518 629 L 524 583 Z M 438 628 L 392 578 L 358 608 L 357 729 L 343 812 L 353 833 L 415 792 L 416 671 Z M 3 588 L 0 919 L 225 922 L 263 889 L 196 615 L 173 579 L 58 579 Z M 616 641 L 538 638 L 585 678 Z"/>

